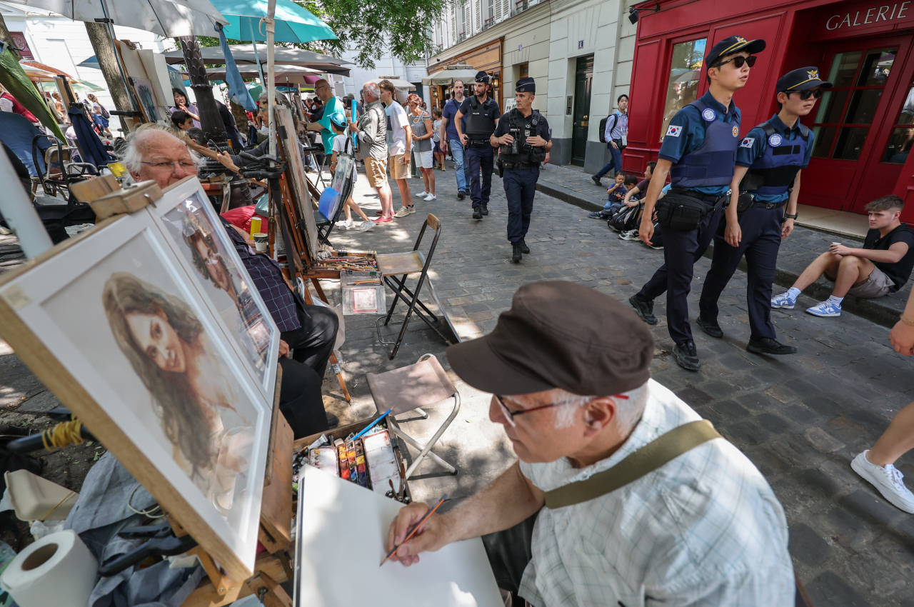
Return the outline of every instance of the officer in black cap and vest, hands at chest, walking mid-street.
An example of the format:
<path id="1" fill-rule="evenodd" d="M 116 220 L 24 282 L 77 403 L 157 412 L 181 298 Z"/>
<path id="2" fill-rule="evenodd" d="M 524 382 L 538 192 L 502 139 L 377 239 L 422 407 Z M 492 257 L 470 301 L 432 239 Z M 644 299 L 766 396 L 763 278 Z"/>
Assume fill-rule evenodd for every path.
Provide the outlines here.
<path id="1" fill-rule="evenodd" d="M 511 112 L 502 115 L 490 138 L 498 148 L 499 175 L 508 199 L 508 242 L 512 247 L 511 261 L 515 262 L 521 260 L 523 253 L 530 252 L 524 239 L 530 228 L 539 164 L 552 149 L 549 124 L 532 107 L 536 92 L 537 83 L 532 78 L 517 80 L 517 104 Z"/>

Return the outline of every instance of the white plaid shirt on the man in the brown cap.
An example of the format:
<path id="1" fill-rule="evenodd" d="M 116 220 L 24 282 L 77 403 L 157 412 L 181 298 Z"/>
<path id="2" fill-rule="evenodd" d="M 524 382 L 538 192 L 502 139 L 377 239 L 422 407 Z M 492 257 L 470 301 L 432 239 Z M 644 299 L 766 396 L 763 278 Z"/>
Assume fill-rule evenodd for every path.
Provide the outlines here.
<path id="1" fill-rule="evenodd" d="M 666 431 L 701 419 L 650 382 L 622 448 L 586 468 L 523 463 L 549 491 L 589 478 Z M 575 506 L 543 508 L 520 595 L 537 607 L 787 607 L 795 585 L 787 520 L 771 486 L 730 442 L 697 446 L 629 485 Z"/>

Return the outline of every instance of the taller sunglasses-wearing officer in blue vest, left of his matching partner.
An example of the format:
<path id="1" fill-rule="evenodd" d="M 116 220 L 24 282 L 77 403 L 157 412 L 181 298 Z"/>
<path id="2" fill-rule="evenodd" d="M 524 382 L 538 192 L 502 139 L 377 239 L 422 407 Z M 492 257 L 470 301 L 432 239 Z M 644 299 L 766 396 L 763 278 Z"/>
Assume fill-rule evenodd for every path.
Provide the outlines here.
<path id="1" fill-rule="evenodd" d="M 648 325 L 656 325 L 654 299 L 666 292 L 666 324 L 680 367 L 701 368 L 692 327 L 688 321 L 688 293 L 695 262 L 707 250 L 717 231 L 727 199 L 739 146 L 739 110 L 733 93 L 746 85 L 753 53 L 764 40 L 730 36 L 707 53 L 706 78 L 710 86 L 701 99 L 676 112 L 664 133 L 654 177 L 645 197 L 638 238 L 651 244 L 654 207 L 664 227 L 664 265 L 629 303 Z M 673 182 L 669 194 L 657 202 L 666 176 Z"/>

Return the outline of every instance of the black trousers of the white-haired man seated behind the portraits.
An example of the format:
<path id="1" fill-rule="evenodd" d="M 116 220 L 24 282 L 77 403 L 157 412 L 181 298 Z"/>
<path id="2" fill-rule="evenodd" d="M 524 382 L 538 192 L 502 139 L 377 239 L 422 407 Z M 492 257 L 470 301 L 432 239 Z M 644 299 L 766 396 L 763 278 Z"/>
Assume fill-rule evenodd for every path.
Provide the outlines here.
<path id="1" fill-rule="evenodd" d="M 329 308 L 308 305 L 298 316 L 302 327 L 280 334 L 293 350 L 292 357 L 280 357 L 280 410 L 296 439 L 330 429 L 321 384 L 339 326 Z"/>

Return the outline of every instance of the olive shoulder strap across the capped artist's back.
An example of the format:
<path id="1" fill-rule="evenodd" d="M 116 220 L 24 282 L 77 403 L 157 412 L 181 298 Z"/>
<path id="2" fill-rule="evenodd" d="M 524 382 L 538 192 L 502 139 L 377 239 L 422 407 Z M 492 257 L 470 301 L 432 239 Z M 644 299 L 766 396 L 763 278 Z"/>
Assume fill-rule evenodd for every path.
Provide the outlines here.
<path id="1" fill-rule="evenodd" d="M 648 442 L 641 449 L 630 453 L 609 470 L 594 474 L 586 480 L 547 491 L 546 507 L 555 509 L 574 506 L 606 495 L 637 481 L 645 474 L 654 472 L 664 463 L 674 460 L 698 445 L 719 438 L 723 437 L 707 420 L 690 421 L 677 426 L 654 441 Z"/>

